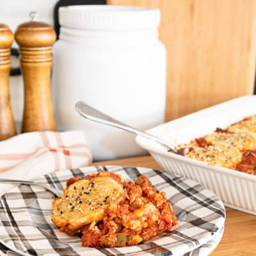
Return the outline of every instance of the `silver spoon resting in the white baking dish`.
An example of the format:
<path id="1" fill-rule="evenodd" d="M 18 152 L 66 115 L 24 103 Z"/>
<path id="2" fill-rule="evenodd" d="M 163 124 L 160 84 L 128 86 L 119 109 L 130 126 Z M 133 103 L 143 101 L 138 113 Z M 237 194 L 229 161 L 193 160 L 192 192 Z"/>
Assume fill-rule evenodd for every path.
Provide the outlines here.
<path id="1" fill-rule="evenodd" d="M 100 112 L 99 110 L 92 108 L 91 106 L 89 106 L 88 104 L 86 104 L 83 101 L 78 101 L 76 103 L 76 110 L 81 116 L 83 116 L 89 120 L 92 120 L 94 122 L 110 125 L 110 126 L 122 129 L 124 131 L 132 132 L 134 134 L 143 136 L 150 140 L 157 141 L 158 143 L 167 147 L 170 152 L 173 152 L 175 154 L 181 154 L 182 156 L 185 156 L 185 154 L 189 151 L 189 148 L 187 148 L 187 147 L 180 148 L 179 150 L 177 150 L 177 148 L 175 148 L 175 145 L 173 145 L 172 143 L 162 140 L 161 138 L 158 138 L 158 137 L 156 137 L 152 134 L 149 134 L 147 132 L 140 131 L 134 127 L 131 127 L 130 125 L 124 124 L 124 123 L 112 118 L 111 116 L 108 116 L 108 115 Z"/>

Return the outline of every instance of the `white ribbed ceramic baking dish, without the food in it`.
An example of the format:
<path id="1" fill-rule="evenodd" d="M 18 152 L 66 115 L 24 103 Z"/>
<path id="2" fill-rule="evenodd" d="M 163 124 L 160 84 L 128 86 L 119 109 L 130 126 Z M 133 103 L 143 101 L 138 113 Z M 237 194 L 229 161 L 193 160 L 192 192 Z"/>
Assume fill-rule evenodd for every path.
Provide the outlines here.
<path id="1" fill-rule="evenodd" d="M 225 129 L 246 116 L 256 114 L 256 95 L 239 97 L 183 116 L 147 132 L 175 145 L 204 136 L 217 127 Z M 194 179 L 220 196 L 228 207 L 256 214 L 256 175 L 209 166 L 204 162 L 167 152 L 166 148 L 141 136 L 136 143 L 145 148 L 166 172 Z"/>

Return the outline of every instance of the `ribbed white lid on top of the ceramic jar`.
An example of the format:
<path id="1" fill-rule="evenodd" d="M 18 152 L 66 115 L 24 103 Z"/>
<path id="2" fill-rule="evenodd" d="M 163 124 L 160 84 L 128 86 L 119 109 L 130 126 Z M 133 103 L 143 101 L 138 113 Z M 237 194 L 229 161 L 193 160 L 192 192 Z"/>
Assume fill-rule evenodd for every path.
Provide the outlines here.
<path id="1" fill-rule="evenodd" d="M 60 25 L 86 30 L 156 29 L 160 10 L 137 6 L 75 5 L 59 9 Z"/>

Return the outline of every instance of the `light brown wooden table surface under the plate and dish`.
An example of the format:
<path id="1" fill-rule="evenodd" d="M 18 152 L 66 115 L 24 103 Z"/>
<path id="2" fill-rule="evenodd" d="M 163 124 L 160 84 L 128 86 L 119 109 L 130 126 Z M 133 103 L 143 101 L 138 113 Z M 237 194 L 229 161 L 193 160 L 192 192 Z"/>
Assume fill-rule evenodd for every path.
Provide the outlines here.
<path id="1" fill-rule="evenodd" d="M 132 157 L 94 164 L 143 166 L 161 170 L 151 156 Z M 226 207 L 226 211 L 224 235 L 211 256 L 256 256 L 256 216 L 228 207 Z"/>

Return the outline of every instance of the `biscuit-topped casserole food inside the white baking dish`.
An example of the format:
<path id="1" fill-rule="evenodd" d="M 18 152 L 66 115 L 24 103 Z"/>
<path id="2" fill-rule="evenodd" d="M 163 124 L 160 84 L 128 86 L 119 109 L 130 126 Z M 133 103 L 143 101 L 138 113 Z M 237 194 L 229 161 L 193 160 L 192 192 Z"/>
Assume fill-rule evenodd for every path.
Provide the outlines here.
<path id="1" fill-rule="evenodd" d="M 177 147 L 189 147 L 186 157 L 256 175 L 256 115 Z"/>

